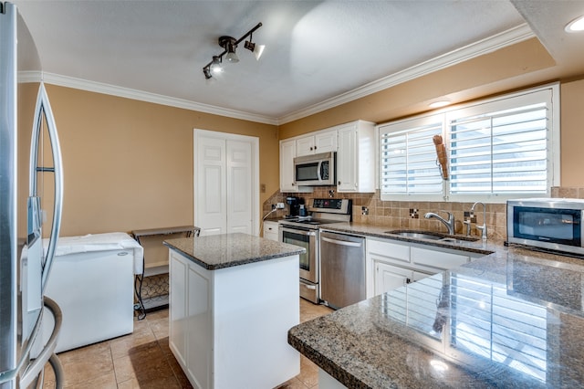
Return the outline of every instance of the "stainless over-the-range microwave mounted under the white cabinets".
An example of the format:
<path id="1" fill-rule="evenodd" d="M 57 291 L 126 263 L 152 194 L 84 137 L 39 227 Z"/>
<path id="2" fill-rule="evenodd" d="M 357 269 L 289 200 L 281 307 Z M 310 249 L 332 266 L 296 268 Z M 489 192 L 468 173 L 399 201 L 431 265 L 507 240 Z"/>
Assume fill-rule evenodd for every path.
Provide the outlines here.
<path id="1" fill-rule="evenodd" d="M 322 152 L 294 159 L 294 181 L 297 185 L 335 185 L 337 153 Z"/>

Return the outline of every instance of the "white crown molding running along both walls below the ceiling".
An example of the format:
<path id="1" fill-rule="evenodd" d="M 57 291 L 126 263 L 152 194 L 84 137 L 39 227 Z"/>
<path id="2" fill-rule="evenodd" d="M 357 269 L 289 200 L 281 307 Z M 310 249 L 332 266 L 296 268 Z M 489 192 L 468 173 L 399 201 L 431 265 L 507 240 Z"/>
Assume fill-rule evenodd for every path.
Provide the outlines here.
<path id="1" fill-rule="evenodd" d="M 290 121 L 296 121 L 298 119 L 305 118 L 323 110 L 337 107 L 352 100 L 357 100 L 365 96 L 369 96 L 370 94 L 379 92 L 383 89 L 388 89 L 411 79 L 416 79 L 418 77 L 433 73 L 434 71 L 451 67 L 466 60 L 496 51 L 500 48 L 514 45 L 531 37 L 535 37 L 535 35 L 529 26 L 527 26 L 527 24 L 516 26 L 515 28 L 506 30 L 493 37 L 487 37 L 471 45 L 458 48 L 440 57 L 432 58 L 422 62 L 419 65 L 415 65 L 412 68 L 401 70 L 397 73 L 391 74 L 390 76 L 372 81 L 360 88 L 349 90 L 348 92 L 342 93 L 339 96 L 324 100 L 305 109 L 297 110 L 280 118 L 257 115 L 241 110 L 230 110 L 210 104 L 203 104 L 191 100 L 176 99 L 156 93 L 145 92 L 137 89 L 122 88 L 115 85 L 89 81 L 86 79 L 76 79 L 55 73 L 21 71 L 18 73 L 18 82 L 44 81 L 47 84 L 61 87 L 87 90 L 131 100 L 147 101 L 155 104 L 182 108 L 184 110 L 196 110 L 199 112 L 205 112 L 244 121 L 255 121 L 265 124 L 280 125 Z"/>

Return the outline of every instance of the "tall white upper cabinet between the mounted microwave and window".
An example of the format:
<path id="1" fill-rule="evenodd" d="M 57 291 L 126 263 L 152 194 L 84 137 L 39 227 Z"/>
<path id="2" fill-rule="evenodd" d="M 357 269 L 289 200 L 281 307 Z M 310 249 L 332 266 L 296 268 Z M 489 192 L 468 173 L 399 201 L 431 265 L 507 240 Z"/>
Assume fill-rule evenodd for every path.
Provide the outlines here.
<path id="1" fill-rule="evenodd" d="M 375 192 L 375 124 L 353 121 L 336 127 L 337 190 Z"/>

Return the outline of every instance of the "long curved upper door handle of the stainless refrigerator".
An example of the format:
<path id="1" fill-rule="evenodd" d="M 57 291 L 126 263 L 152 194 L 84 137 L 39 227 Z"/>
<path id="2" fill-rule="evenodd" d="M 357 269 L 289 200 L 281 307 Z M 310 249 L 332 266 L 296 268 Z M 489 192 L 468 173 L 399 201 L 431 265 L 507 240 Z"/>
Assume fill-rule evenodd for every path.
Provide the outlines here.
<path id="1" fill-rule="evenodd" d="M 53 154 L 53 167 L 47 168 L 44 166 L 38 166 L 38 142 L 41 135 L 41 129 L 43 125 L 43 117 L 47 123 L 47 131 L 51 144 L 51 152 Z M 57 135 L 57 124 L 55 123 L 55 117 L 53 116 L 53 110 L 51 109 L 50 103 L 48 101 L 47 90 L 45 89 L 45 84 L 40 83 L 38 88 L 38 95 L 36 97 L 36 109 L 35 109 L 35 121 L 33 123 L 33 136 L 30 146 L 30 181 L 29 181 L 29 195 L 31 197 L 37 196 L 37 173 L 52 172 L 55 177 L 55 199 L 53 208 L 53 221 L 51 227 L 51 235 L 48 239 L 47 247 L 47 257 L 43 264 L 42 273 L 42 291 L 45 292 L 47 288 L 47 279 L 50 273 L 50 269 L 53 263 L 53 258 L 55 257 L 55 249 L 57 248 L 57 238 L 58 233 L 61 228 L 61 215 L 62 215 L 62 204 L 63 204 L 63 162 L 61 160 L 61 148 L 58 142 Z"/>

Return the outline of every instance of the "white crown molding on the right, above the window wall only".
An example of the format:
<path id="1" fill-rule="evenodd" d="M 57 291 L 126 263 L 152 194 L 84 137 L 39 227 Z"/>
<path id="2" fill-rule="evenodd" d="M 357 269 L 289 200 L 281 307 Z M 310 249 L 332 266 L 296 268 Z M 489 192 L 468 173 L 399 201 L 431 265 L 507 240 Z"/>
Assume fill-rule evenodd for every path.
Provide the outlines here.
<path id="1" fill-rule="evenodd" d="M 369 96 L 370 94 L 394 87 L 412 79 L 417 79 L 433 73 L 434 71 L 451 67 L 472 58 L 480 57 L 503 47 L 514 45 L 531 37 L 536 36 L 531 28 L 527 26 L 527 23 L 510 28 L 493 37 L 487 37 L 465 47 L 457 48 L 449 53 L 443 54 L 442 56 L 412 66 L 412 68 L 406 68 L 382 79 L 371 81 L 369 84 L 365 84 L 360 88 L 349 90 L 346 93 L 324 100 L 308 108 L 292 112 L 286 116 L 278 118 L 278 124 L 285 124 L 290 121 L 297 121 L 298 119 L 306 118 L 307 116 L 323 110 L 329 110 L 349 101 Z"/>

